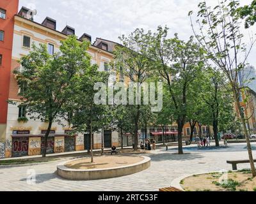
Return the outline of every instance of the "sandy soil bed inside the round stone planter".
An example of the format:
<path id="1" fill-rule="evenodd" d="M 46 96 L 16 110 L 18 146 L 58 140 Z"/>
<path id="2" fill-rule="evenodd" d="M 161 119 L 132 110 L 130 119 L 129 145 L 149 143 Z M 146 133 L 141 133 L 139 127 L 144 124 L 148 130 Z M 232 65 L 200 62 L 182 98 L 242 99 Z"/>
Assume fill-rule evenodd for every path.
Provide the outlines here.
<path id="1" fill-rule="evenodd" d="M 137 156 L 100 156 L 94 157 L 94 163 L 91 163 L 91 158 L 78 159 L 75 161 L 70 161 L 65 164 L 67 168 L 77 169 L 77 170 L 90 170 L 97 168 L 115 168 L 121 166 L 127 166 L 130 164 L 139 163 L 143 161 L 143 157 Z"/>

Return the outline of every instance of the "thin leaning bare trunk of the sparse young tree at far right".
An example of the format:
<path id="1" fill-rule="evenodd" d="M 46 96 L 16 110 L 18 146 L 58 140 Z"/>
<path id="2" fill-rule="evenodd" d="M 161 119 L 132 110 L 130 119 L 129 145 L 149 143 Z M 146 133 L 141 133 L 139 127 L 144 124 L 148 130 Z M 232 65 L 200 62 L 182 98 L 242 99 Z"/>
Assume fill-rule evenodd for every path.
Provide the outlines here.
<path id="1" fill-rule="evenodd" d="M 236 96 L 236 105 L 237 105 L 238 111 L 240 113 L 240 118 L 241 118 L 242 123 L 243 123 L 244 136 L 245 136 L 245 140 L 246 140 L 246 144 L 247 144 L 247 150 L 248 150 L 248 156 L 249 156 L 249 159 L 250 159 L 250 166 L 251 166 L 251 170 L 252 170 L 252 176 L 256 177 L 256 171 L 255 171 L 255 166 L 254 166 L 253 156 L 252 156 L 252 146 L 251 146 L 250 138 L 249 138 L 248 131 L 247 131 L 247 128 L 246 128 L 244 113 L 241 110 L 241 105 L 240 105 L 240 102 L 239 102 L 239 98 L 237 97 L 236 94 L 235 94 L 235 96 Z"/>

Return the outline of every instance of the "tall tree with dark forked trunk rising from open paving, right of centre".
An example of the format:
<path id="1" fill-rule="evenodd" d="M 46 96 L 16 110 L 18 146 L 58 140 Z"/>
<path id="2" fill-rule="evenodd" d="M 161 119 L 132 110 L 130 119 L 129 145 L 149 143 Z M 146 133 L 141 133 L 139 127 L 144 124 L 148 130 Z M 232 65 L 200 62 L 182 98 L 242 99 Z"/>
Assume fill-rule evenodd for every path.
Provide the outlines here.
<path id="1" fill-rule="evenodd" d="M 173 116 L 178 125 L 179 154 L 183 154 L 182 130 L 188 113 L 188 91 L 204 66 L 203 53 L 193 42 L 193 37 L 187 42 L 179 40 L 177 34 L 172 39 L 166 39 L 167 27 L 158 27 L 157 31 L 152 35 L 150 57 L 155 73 L 162 78 L 170 92 Z"/>

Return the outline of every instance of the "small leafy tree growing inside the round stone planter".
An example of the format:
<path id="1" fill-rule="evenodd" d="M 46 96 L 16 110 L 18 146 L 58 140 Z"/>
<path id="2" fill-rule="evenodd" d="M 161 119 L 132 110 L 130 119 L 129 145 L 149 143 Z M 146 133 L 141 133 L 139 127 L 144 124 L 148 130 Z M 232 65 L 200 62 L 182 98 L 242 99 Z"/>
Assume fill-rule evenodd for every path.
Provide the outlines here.
<path id="1" fill-rule="evenodd" d="M 90 133 L 91 162 L 93 163 L 93 133 L 99 133 L 99 129 L 104 129 L 111 123 L 109 107 L 106 104 L 98 104 L 95 98 L 99 89 L 95 84 L 104 84 L 108 80 L 109 74 L 98 71 L 97 65 L 88 66 L 83 72 L 83 76 L 77 79 L 76 91 L 73 94 L 73 101 L 69 108 L 73 110 L 72 128 L 75 132 Z M 102 87 L 102 89 L 104 86 Z M 105 86 L 106 88 L 106 86 Z M 106 93 L 106 90 L 103 90 Z"/>

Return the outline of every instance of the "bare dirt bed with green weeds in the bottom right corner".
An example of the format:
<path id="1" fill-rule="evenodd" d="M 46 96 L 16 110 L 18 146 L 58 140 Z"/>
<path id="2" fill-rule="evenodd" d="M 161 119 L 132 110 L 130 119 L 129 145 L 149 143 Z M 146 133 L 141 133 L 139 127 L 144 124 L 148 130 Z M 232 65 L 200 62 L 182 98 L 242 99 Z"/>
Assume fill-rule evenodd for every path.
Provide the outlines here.
<path id="1" fill-rule="evenodd" d="M 180 182 L 185 191 L 256 191 L 250 170 L 193 175 Z"/>

